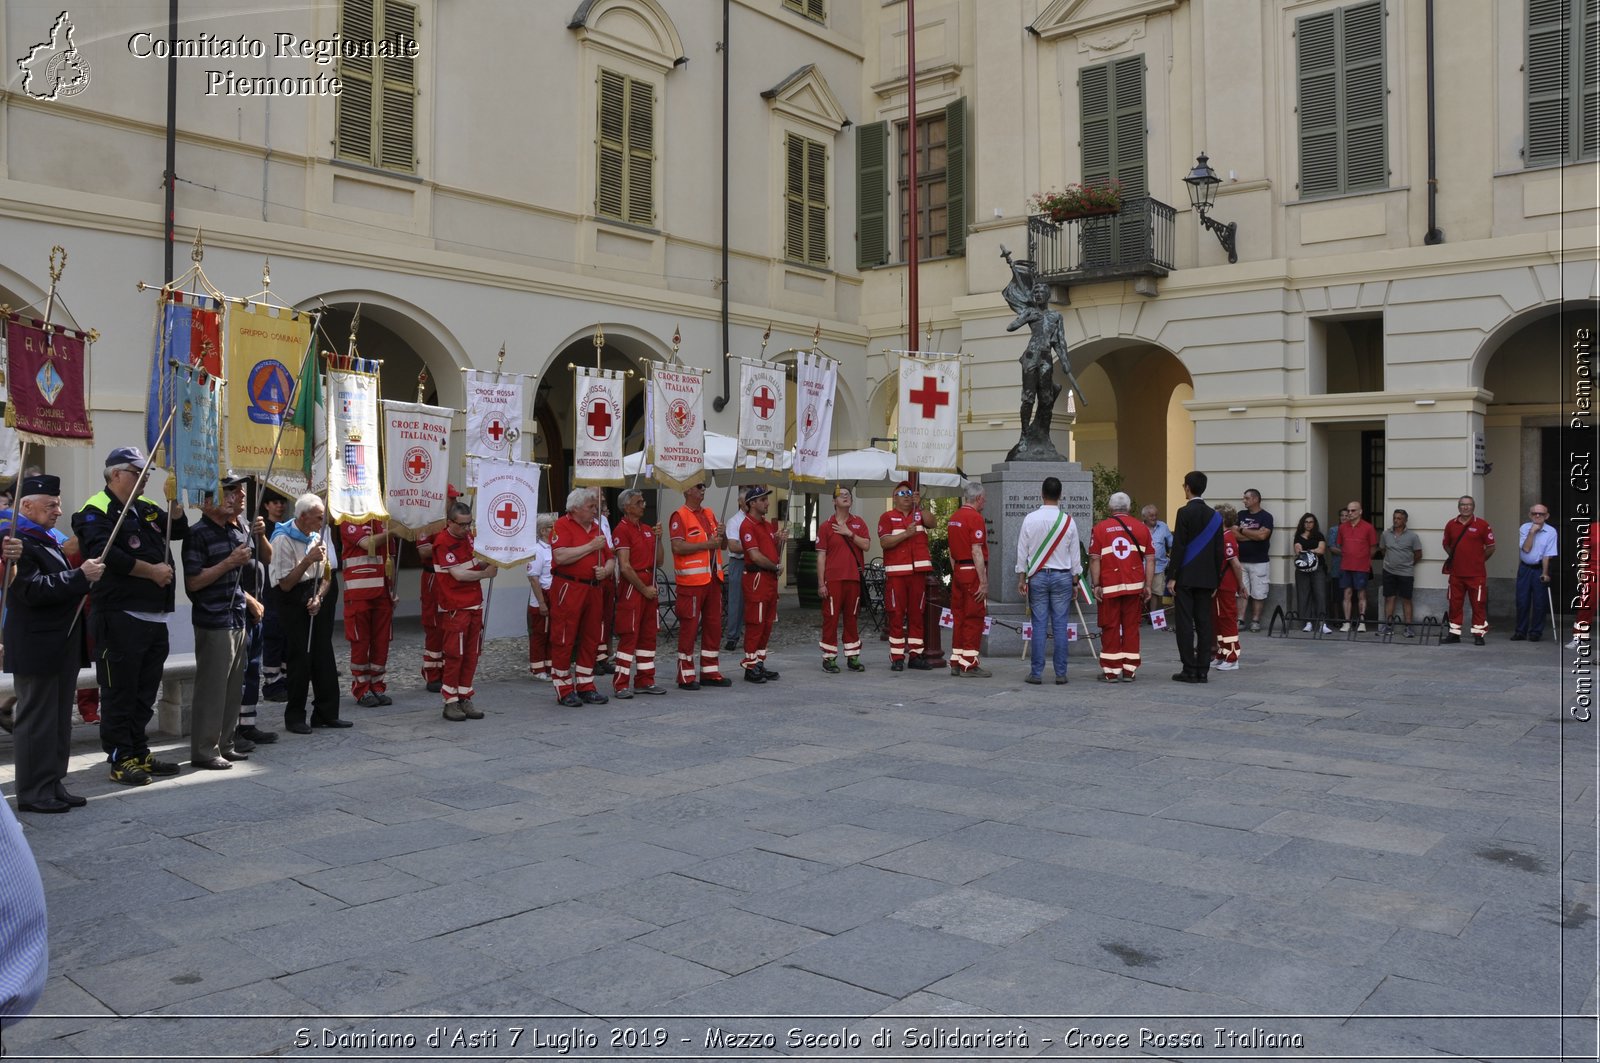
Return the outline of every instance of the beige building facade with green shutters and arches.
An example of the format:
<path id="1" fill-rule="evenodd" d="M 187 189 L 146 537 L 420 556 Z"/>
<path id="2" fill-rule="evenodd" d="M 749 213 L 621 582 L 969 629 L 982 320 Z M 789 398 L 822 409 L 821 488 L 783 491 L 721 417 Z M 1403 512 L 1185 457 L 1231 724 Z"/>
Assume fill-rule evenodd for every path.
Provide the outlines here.
<path id="1" fill-rule="evenodd" d="M 597 328 L 634 370 L 682 335 L 709 395 L 725 351 L 819 333 L 840 448 L 894 435 L 909 335 L 960 351 L 963 469 L 987 471 L 1019 426 L 1003 245 L 1046 274 L 1074 349 L 1086 402 L 1058 407 L 1058 443 L 1163 514 L 1200 467 L 1280 525 L 1355 498 L 1379 522 L 1406 507 L 1434 546 L 1461 493 L 1507 541 L 1571 490 L 1557 429 L 1600 304 L 1584 0 L 920 0 L 915 134 L 904 0 L 179 10 L 170 122 L 165 3 L 72 5 L 70 38 L 59 5 L 0 5 L 0 301 L 42 301 L 67 248 L 67 306 L 101 331 L 101 443 L 45 464 L 82 496 L 142 423 L 154 299 L 134 282 L 165 279 L 170 125 L 178 269 L 197 229 L 229 295 L 270 259 L 277 299 L 326 307 L 328 346 L 360 307 L 387 397 L 426 368 L 459 407 L 459 370 L 504 344 L 536 378 L 525 427 L 554 487 L 566 367 L 594 362 Z M 336 54 L 336 35 L 394 48 Z M 1189 205 L 1202 152 L 1237 263 Z M 1085 179 L 1118 179 L 1123 211 L 1030 223 L 1034 194 Z M 637 426 L 640 378 L 627 399 Z M 709 402 L 709 427 L 733 413 Z M 1286 535 L 1274 554 L 1291 583 Z M 1440 559 L 1419 570 L 1435 605 Z M 1491 575 L 1514 570 L 1502 548 Z"/>

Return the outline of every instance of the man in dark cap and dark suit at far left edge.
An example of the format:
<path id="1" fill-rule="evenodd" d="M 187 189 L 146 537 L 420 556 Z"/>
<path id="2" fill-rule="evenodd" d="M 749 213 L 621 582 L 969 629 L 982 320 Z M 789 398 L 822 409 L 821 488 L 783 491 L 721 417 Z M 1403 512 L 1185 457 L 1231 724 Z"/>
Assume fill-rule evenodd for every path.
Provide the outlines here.
<path id="1" fill-rule="evenodd" d="M 22 480 L 16 538 L 5 557 L 16 575 L 6 597 L 5 669 L 16 682 L 16 807 L 58 813 L 85 805 L 67 792 L 72 701 L 85 661 L 78 605 L 99 581 L 98 560 L 74 568 L 53 532 L 61 517 L 61 477 Z M 8 528 L 10 530 L 10 528 Z"/>

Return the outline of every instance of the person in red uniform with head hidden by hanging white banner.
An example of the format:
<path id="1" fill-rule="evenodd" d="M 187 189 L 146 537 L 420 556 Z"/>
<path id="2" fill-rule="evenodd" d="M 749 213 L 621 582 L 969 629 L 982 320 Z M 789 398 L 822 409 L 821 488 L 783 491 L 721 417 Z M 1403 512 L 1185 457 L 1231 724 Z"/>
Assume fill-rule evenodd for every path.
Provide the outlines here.
<path id="1" fill-rule="evenodd" d="M 389 639 L 394 636 L 398 543 L 386 520 L 339 522 L 344 568 L 344 637 L 350 644 L 350 696 L 368 709 L 394 704 L 386 692 Z"/>

